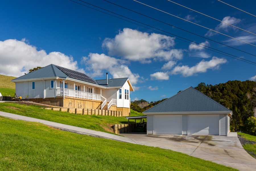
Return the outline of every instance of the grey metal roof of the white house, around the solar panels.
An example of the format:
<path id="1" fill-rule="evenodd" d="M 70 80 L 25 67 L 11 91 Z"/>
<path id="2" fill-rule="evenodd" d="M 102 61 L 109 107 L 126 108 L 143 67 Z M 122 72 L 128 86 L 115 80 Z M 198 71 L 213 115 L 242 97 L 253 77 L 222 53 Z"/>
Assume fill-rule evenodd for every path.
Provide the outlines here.
<path id="1" fill-rule="evenodd" d="M 20 76 L 18 78 L 13 79 L 15 80 L 24 80 L 24 79 L 37 79 L 37 78 L 49 78 L 49 77 L 60 77 L 60 78 L 71 78 L 61 70 L 59 70 L 57 65 L 50 64 L 48 66 L 45 66 L 44 68 L 40 68 L 38 70 L 35 70 L 33 72 L 30 72 L 26 75 Z M 91 78 L 91 77 L 90 77 Z M 71 78 L 74 80 L 82 81 L 76 78 Z M 114 78 L 114 79 L 108 79 L 108 85 L 106 85 L 106 79 L 104 80 L 95 80 L 91 78 L 93 81 L 97 82 L 95 85 L 104 86 L 104 87 L 122 87 L 125 82 L 128 80 L 128 78 Z M 86 82 L 86 81 L 83 81 Z M 91 82 L 88 82 L 90 84 L 94 84 Z"/>

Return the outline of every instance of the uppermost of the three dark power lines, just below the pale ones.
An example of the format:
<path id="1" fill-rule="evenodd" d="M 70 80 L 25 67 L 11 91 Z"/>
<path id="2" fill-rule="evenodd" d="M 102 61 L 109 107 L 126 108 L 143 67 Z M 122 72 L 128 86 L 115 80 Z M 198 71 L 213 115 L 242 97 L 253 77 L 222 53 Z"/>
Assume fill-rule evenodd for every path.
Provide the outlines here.
<path id="1" fill-rule="evenodd" d="M 158 19 L 154 19 L 154 18 L 149 17 L 149 16 L 147 16 L 147 15 L 144 15 L 144 14 L 142 14 L 142 13 L 138 13 L 138 12 L 136 12 L 136 11 L 133 11 L 133 10 L 128 9 L 128 8 L 126 8 L 126 7 L 123 7 L 123 6 L 121 6 L 121 5 L 117 5 L 117 4 L 112 3 L 112 2 L 110 2 L 110 1 L 107 1 L 107 0 L 104 0 L 104 1 L 106 1 L 106 2 L 108 2 L 108 3 L 111 3 L 111 4 L 113 4 L 113 5 L 116 5 L 116 6 L 118 6 L 118 7 L 121 7 L 121 8 L 127 9 L 127 10 L 129 10 L 129 11 L 132 11 L 132 12 L 134 12 L 134 13 L 137 13 L 137 14 L 143 15 L 143 16 L 148 17 L 148 18 L 150 18 L 150 19 L 153 19 L 153 20 L 159 21 L 159 22 L 164 23 L 164 24 L 166 24 L 166 25 L 169 25 L 169 26 L 172 26 L 172 27 L 178 28 L 178 29 L 183 30 L 183 31 L 185 31 L 185 32 L 188 32 L 188 33 L 194 34 L 194 35 L 196 35 L 196 36 L 200 36 L 200 37 L 202 37 L 202 38 L 205 38 L 205 39 L 207 39 L 207 40 L 210 40 L 210 41 L 216 42 L 216 43 L 218 43 L 218 44 L 221 44 L 221 45 L 224 45 L 224 46 L 227 46 L 227 47 L 230 47 L 230 48 L 233 48 L 233 49 L 239 50 L 239 51 L 241 51 L 241 52 L 244 52 L 244 53 L 247 53 L 247 54 L 250 54 L 250 55 L 256 56 L 256 55 L 254 55 L 254 54 L 251 54 L 251 53 L 245 52 L 245 51 L 243 51 L 243 50 L 240 50 L 240 49 L 234 48 L 234 47 L 232 47 L 232 46 L 228 46 L 228 45 L 226 45 L 226 44 L 223 44 L 223 43 L 217 42 L 217 41 L 215 41 L 215 40 L 212 40 L 212 39 L 210 39 L 210 38 L 207 38 L 207 37 L 201 36 L 201 35 L 199 35 L 199 34 L 196 34 L 196 33 L 190 32 L 190 31 L 185 30 L 185 29 L 183 29 L 183 28 L 179 28 L 179 27 L 176 27 L 176 26 L 174 26 L 174 25 L 171 25 L 171 24 L 165 23 L 165 22 L 163 22 L 163 21 L 160 21 L 160 20 L 158 20 Z"/>

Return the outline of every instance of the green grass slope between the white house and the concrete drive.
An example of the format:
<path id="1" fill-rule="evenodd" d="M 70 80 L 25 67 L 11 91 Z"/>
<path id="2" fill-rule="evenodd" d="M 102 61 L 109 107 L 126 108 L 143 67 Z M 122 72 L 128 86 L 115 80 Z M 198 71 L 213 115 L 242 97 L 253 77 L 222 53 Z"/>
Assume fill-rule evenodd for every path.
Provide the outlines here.
<path id="1" fill-rule="evenodd" d="M 75 115 L 68 112 L 41 109 L 42 106 L 24 105 L 18 103 L 0 103 L 0 111 L 43 119 L 52 122 L 73 125 L 86 129 L 102 132 L 111 132 L 112 124 L 127 124 L 125 117 L 100 116 L 100 115 Z M 141 114 L 141 113 L 134 113 Z M 136 120 L 138 121 L 138 120 Z M 134 123 L 131 122 L 130 123 Z"/>

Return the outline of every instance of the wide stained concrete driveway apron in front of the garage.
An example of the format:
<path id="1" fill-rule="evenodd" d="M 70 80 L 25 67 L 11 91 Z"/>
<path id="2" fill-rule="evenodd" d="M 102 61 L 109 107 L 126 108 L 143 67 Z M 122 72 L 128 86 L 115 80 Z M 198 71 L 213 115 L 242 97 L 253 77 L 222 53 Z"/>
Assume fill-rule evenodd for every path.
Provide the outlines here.
<path id="1" fill-rule="evenodd" d="M 256 159 L 243 149 L 237 133 L 229 133 L 227 137 L 218 135 L 120 135 L 130 138 L 136 144 L 182 152 L 238 170 L 256 170 Z"/>

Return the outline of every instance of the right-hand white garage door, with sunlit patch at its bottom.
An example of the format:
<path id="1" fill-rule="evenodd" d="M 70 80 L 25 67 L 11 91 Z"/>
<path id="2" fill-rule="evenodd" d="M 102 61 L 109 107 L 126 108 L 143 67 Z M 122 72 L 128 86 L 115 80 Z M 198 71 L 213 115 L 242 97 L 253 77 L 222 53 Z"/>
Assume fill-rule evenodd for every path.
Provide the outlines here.
<path id="1" fill-rule="evenodd" d="M 188 115 L 188 135 L 219 135 L 220 115 Z"/>

